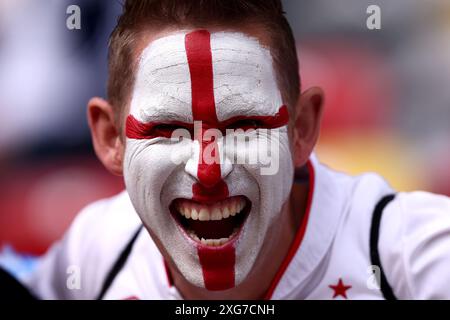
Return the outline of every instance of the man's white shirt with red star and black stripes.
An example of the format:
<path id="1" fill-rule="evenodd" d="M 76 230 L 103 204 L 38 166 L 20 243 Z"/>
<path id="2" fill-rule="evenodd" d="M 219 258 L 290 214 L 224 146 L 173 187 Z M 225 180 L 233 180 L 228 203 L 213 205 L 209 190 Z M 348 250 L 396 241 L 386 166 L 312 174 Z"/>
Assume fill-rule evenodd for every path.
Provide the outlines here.
<path id="1" fill-rule="evenodd" d="M 383 299 L 370 258 L 375 205 L 392 188 L 373 173 L 357 177 L 310 160 L 306 217 L 272 280 L 271 299 Z M 95 299 L 141 221 L 126 191 L 80 212 L 25 284 L 43 299 Z M 450 299 L 450 199 L 397 193 L 384 209 L 379 255 L 399 299 Z M 181 299 L 145 229 L 104 299 Z"/>

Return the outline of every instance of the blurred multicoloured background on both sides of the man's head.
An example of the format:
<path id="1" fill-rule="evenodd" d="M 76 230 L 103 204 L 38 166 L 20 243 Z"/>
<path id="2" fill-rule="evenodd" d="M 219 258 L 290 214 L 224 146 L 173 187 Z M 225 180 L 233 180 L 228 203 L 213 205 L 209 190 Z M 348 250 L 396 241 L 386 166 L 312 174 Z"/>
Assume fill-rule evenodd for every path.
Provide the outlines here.
<path id="1" fill-rule="evenodd" d="M 317 154 L 398 190 L 450 195 L 450 1 L 286 0 L 302 90 L 321 86 Z M 66 9 L 81 8 L 81 30 Z M 369 30 L 369 5 L 381 29 Z M 0 248 L 41 254 L 89 202 L 123 189 L 91 146 L 119 1 L 0 0 Z M 1 250 L 0 250 L 1 251 Z"/>

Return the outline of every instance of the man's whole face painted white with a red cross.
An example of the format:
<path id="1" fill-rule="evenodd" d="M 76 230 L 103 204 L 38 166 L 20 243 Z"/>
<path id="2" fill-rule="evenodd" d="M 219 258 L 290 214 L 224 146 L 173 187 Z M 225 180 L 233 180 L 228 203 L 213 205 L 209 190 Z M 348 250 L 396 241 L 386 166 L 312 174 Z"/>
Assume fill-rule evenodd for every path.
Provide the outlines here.
<path id="1" fill-rule="evenodd" d="M 287 122 L 270 52 L 255 38 L 195 30 L 143 51 L 126 124 L 125 182 L 142 221 L 192 284 L 239 285 L 270 241 L 292 185 Z M 230 130 L 249 128 L 244 142 L 227 147 L 242 133 Z M 189 137 L 171 139 L 177 129 Z M 266 164 L 236 161 L 261 150 L 276 157 L 271 174 L 261 170 Z"/>

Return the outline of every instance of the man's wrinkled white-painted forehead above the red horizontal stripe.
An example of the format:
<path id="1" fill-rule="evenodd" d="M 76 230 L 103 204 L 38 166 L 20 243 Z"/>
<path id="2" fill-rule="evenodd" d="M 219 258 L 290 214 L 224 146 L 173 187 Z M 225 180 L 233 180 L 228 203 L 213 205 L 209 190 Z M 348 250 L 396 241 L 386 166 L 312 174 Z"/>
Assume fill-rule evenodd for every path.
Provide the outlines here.
<path id="1" fill-rule="evenodd" d="M 131 114 L 146 121 L 192 122 L 193 90 L 201 98 L 209 94 L 208 88 L 212 89 L 211 100 L 219 121 L 237 115 L 278 112 L 281 94 L 268 48 L 243 33 L 210 33 L 207 45 L 204 41 L 189 43 L 195 41 L 189 34 L 189 31 L 177 32 L 159 38 L 143 50 Z M 204 85 L 193 86 L 193 68 L 200 70 L 200 74 L 211 68 L 211 79 L 201 76 L 200 83 Z"/>

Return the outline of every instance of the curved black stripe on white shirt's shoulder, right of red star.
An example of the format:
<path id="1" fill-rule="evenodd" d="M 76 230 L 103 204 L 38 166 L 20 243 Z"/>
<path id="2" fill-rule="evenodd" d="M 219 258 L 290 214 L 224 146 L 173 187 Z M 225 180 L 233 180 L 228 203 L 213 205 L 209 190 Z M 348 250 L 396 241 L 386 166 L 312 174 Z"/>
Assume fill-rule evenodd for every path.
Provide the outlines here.
<path id="1" fill-rule="evenodd" d="M 394 198 L 395 194 L 389 194 L 381 198 L 373 211 L 372 226 L 370 228 L 370 259 L 372 265 L 380 268 L 379 286 L 386 300 L 397 300 L 397 297 L 394 295 L 394 292 L 386 279 L 383 267 L 381 266 L 380 254 L 378 252 L 378 239 L 380 236 L 380 224 L 383 210 Z"/>

